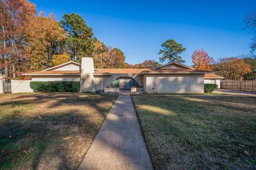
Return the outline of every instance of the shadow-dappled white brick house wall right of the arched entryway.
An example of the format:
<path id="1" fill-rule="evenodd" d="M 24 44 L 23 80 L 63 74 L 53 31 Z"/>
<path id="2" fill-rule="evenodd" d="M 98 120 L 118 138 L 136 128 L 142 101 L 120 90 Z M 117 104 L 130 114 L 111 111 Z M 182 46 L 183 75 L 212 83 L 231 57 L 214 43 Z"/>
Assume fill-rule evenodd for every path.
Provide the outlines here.
<path id="1" fill-rule="evenodd" d="M 147 92 L 203 93 L 204 74 L 147 75 Z"/>

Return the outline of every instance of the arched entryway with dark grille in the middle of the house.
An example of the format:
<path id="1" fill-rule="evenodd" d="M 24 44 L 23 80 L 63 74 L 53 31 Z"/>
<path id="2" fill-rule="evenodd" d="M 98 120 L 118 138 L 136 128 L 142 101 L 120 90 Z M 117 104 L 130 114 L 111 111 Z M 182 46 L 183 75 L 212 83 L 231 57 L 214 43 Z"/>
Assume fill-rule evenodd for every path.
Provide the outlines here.
<path id="1" fill-rule="evenodd" d="M 119 88 L 120 91 L 131 91 L 132 87 L 140 87 L 139 83 L 131 77 L 119 77 L 113 81 L 111 86 Z"/>

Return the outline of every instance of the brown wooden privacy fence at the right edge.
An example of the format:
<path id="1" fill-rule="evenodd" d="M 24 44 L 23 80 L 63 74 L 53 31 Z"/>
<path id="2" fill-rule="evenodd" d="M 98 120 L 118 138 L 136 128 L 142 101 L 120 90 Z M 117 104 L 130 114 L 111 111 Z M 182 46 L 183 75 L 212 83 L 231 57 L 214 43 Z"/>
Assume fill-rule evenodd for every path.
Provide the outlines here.
<path id="1" fill-rule="evenodd" d="M 220 88 L 242 91 L 256 91 L 256 80 L 222 81 L 220 82 Z"/>

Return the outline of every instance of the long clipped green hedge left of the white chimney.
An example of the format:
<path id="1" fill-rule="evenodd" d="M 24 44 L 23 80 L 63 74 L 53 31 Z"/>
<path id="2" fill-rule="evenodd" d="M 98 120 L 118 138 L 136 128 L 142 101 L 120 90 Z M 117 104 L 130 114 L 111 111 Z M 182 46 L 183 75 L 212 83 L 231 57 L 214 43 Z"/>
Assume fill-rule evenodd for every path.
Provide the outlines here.
<path id="1" fill-rule="evenodd" d="M 34 92 L 78 92 L 79 81 L 31 81 L 30 88 Z"/>

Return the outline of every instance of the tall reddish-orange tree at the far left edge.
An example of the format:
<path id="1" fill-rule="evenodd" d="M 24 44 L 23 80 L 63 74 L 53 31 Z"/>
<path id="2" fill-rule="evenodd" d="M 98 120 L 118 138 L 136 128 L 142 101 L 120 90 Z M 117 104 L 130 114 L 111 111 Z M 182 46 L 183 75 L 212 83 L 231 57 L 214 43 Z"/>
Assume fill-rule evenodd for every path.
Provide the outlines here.
<path id="1" fill-rule="evenodd" d="M 26 64 L 26 28 L 36 15 L 36 6 L 27 0 L 0 0 L 0 67 L 15 78 Z"/>

